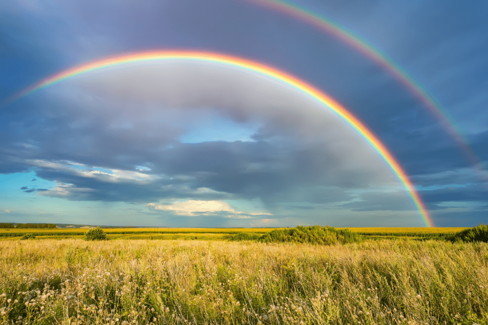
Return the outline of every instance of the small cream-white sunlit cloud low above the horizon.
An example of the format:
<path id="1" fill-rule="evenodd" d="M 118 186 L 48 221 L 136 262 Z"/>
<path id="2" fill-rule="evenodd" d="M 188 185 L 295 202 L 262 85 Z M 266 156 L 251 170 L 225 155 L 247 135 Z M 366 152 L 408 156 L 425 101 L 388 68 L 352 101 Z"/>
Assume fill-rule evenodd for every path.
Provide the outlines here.
<path id="1" fill-rule="evenodd" d="M 272 215 L 268 212 L 243 212 L 232 208 L 224 201 L 187 200 L 175 201 L 171 204 L 148 203 L 147 207 L 153 210 L 163 210 L 183 216 L 223 216 L 232 219 L 249 219 L 251 216 Z"/>

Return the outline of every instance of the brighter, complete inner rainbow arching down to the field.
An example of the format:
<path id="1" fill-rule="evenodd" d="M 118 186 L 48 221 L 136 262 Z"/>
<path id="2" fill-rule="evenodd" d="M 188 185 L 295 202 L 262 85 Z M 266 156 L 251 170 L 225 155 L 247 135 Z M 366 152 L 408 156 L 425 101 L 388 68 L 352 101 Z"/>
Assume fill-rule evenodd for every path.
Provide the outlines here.
<path id="1" fill-rule="evenodd" d="M 128 54 L 118 57 L 108 57 L 101 60 L 88 62 L 50 76 L 41 82 L 34 84 L 33 86 L 25 89 L 16 98 L 31 94 L 37 90 L 48 87 L 52 84 L 70 78 L 72 76 L 81 75 L 97 69 L 102 69 L 110 66 L 119 66 L 127 63 L 134 62 L 147 62 L 155 60 L 181 60 L 181 61 L 193 61 L 193 62 L 206 62 L 217 63 L 224 66 L 234 67 L 248 71 L 250 73 L 265 76 L 267 78 L 275 79 L 281 83 L 291 86 L 306 96 L 312 97 L 314 100 L 328 107 L 335 115 L 343 119 L 349 124 L 358 134 L 360 134 L 370 145 L 376 150 L 377 153 L 386 161 L 389 168 L 394 172 L 396 177 L 405 186 L 410 198 L 414 205 L 419 210 L 420 215 L 427 227 L 434 227 L 434 222 L 430 218 L 429 212 L 422 202 L 419 194 L 415 191 L 415 188 L 409 180 L 407 174 L 403 171 L 400 164 L 396 161 L 393 155 L 386 149 L 385 145 L 371 132 L 365 125 L 363 125 L 354 115 L 349 113 L 344 107 L 336 102 L 331 97 L 320 92 L 318 89 L 307 84 L 306 82 L 291 76 L 283 71 L 279 71 L 270 66 L 257 63 L 243 57 L 231 57 L 222 54 L 209 53 L 209 52 L 194 52 L 194 51 L 157 51 L 157 52 L 142 52 Z"/>

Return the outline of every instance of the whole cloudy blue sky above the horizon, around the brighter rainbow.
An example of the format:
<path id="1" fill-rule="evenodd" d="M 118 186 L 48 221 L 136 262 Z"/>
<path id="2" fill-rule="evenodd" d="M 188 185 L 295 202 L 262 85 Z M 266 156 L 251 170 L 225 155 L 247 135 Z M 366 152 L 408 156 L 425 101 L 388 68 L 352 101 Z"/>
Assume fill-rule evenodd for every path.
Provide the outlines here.
<path id="1" fill-rule="evenodd" d="M 25 91 L 106 57 L 186 51 L 311 85 L 375 134 L 433 225 L 486 224 L 487 11 L 441 0 L 2 1 L 0 222 L 428 224 L 357 129 L 279 78 L 173 58 Z"/>

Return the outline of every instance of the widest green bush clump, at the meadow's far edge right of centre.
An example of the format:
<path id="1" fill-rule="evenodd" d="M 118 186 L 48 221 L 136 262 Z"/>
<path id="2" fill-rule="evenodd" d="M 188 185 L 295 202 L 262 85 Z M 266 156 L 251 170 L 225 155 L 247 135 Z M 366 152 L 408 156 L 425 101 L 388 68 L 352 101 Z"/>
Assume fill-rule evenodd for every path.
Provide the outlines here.
<path id="1" fill-rule="evenodd" d="M 263 243 L 309 243 L 320 245 L 331 245 L 335 243 L 357 243 L 362 241 L 361 235 L 349 229 L 337 230 L 333 227 L 302 227 L 298 226 L 290 229 L 274 229 L 259 238 Z"/>

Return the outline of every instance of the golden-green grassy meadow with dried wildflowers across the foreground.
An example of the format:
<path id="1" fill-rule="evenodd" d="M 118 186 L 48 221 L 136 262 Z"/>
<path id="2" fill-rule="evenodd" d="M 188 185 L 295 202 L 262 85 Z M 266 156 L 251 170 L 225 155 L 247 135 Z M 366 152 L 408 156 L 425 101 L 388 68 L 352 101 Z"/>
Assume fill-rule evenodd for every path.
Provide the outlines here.
<path id="1" fill-rule="evenodd" d="M 488 324 L 486 243 L 276 244 L 191 231 L 5 238 L 0 324 Z"/>

